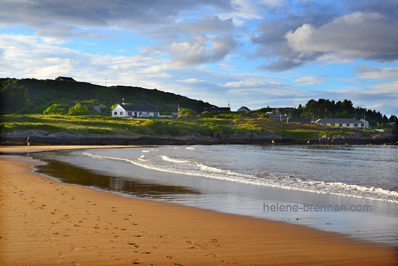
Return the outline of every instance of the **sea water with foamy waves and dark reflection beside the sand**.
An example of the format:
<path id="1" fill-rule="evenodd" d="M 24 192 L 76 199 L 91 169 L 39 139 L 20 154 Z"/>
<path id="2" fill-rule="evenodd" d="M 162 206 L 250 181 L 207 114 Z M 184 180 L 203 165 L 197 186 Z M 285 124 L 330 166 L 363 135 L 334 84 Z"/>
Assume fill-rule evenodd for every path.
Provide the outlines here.
<path id="1" fill-rule="evenodd" d="M 398 245 L 398 147 L 195 145 L 47 151 L 37 171 L 126 196 Z"/>

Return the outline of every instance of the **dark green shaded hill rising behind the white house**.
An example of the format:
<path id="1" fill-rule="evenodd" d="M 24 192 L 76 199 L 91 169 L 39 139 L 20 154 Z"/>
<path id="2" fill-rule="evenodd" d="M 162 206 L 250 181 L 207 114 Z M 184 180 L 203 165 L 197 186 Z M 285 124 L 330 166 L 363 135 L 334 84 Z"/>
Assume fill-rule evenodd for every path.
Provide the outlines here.
<path id="1" fill-rule="evenodd" d="M 110 107 L 121 103 L 149 105 L 160 112 L 177 111 L 178 105 L 197 114 L 213 105 L 185 96 L 162 92 L 157 89 L 144 89 L 129 86 L 104 87 L 86 82 L 37 80 L 37 79 L 0 79 L 0 104 L 2 114 L 43 114 L 53 104 L 67 111 L 76 103 L 88 107 L 89 114 L 98 114 L 94 106 L 103 104 L 107 108 L 102 115 L 110 115 Z"/>

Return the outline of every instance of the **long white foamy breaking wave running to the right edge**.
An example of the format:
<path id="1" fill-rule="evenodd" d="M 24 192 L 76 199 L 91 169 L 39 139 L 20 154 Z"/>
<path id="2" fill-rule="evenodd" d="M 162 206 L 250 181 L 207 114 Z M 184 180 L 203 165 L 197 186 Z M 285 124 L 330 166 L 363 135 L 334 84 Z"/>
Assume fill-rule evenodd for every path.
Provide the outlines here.
<path id="1" fill-rule="evenodd" d="M 314 193 L 344 195 L 398 203 L 398 192 L 383 188 L 350 185 L 342 182 L 306 180 L 290 176 L 277 176 L 270 174 L 254 176 L 250 174 L 243 174 L 230 170 L 207 166 L 203 163 L 199 163 L 196 161 L 171 158 L 165 155 L 152 157 L 142 155 L 138 159 L 126 159 L 95 155 L 88 152 L 84 152 L 84 154 L 95 158 L 126 161 L 128 163 L 133 163 L 137 166 L 141 166 L 147 169 L 159 170 L 163 172 L 188 174 L 253 185 L 301 190 Z M 161 160 L 157 158 L 161 158 Z"/>

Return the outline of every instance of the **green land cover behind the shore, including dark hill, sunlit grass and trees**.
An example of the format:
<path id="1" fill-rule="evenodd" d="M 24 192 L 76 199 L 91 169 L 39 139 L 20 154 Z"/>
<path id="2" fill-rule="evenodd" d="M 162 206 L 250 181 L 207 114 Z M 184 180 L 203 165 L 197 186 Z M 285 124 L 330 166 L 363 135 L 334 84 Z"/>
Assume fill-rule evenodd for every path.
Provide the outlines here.
<path id="1" fill-rule="evenodd" d="M 130 104 L 150 105 L 163 115 L 172 115 L 183 107 L 178 118 L 112 118 L 112 107 L 125 97 Z M 98 99 L 98 100 L 92 100 Z M 310 139 L 327 135 L 349 136 L 360 133 L 371 137 L 371 130 L 286 123 L 269 119 L 269 115 L 286 118 L 357 118 L 366 117 L 374 129 L 391 128 L 397 116 L 382 115 L 375 110 L 354 108 L 351 101 L 310 100 L 298 108 L 262 108 L 248 113 L 213 114 L 209 103 L 159 90 L 138 87 L 104 87 L 85 82 L 36 79 L 0 79 L 0 133 L 41 130 L 48 133 L 118 134 L 153 136 L 198 136 L 258 133 L 286 138 Z M 220 134 L 218 134 L 220 135 Z"/>

